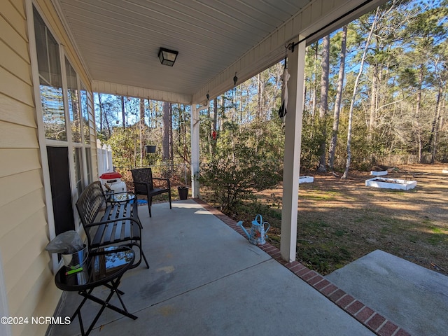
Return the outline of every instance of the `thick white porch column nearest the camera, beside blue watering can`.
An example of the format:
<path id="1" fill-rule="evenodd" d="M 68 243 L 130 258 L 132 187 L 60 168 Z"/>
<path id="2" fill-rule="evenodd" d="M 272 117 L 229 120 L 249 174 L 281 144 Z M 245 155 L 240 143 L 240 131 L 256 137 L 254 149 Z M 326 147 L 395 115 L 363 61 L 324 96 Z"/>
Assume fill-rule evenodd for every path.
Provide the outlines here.
<path id="1" fill-rule="evenodd" d="M 288 107 L 283 159 L 283 209 L 281 210 L 281 258 L 295 260 L 297 251 L 297 202 L 299 200 L 300 145 L 302 143 L 303 77 L 305 41 L 288 53 Z"/>

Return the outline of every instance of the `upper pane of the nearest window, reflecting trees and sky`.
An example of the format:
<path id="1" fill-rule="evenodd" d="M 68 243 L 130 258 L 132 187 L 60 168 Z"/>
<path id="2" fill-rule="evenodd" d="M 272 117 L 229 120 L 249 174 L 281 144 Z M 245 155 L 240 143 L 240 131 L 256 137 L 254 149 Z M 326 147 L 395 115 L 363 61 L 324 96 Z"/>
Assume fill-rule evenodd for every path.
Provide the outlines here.
<path id="1" fill-rule="evenodd" d="M 45 139 L 67 140 L 59 45 L 34 8 L 34 33 Z"/>

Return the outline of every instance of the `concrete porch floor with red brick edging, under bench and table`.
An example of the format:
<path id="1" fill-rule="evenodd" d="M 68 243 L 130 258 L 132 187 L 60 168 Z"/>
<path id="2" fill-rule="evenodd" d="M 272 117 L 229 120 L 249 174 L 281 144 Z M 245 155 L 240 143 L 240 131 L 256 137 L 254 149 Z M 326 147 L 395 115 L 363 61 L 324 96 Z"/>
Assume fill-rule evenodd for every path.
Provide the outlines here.
<path id="1" fill-rule="evenodd" d="M 120 285 L 137 320 L 106 309 L 90 335 L 409 335 L 325 277 L 283 262 L 274 246 L 249 244 L 207 204 L 155 204 L 152 213 L 139 207 L 151 268 L 131 269 Z M 80 299 L 66 293 L 57 316 L 71 316 Z M 85 325 L 98 309 L 85 304 Z M 80 335 L 78 319 L 48 335 Z"/>

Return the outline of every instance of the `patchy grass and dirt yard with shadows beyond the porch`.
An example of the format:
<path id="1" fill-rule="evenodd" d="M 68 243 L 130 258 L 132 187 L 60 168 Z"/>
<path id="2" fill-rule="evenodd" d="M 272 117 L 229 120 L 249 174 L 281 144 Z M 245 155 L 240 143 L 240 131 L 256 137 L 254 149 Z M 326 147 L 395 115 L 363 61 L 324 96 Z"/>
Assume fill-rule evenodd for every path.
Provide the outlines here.
<path id="1" fill-rule="evenodd" d="M 301 183 L 297 260 L 328 274 L 381 249 L 448 275 L 448 174 L 442 173 L 448 165 L 396 168 L 383 177 L 414 180 L 416 188 L 366 187 L 365 180 L 374 177 L 370 172 L 351 172 L 346 180 L 315 174 L 314 183 Z M 257 207 L 244 218 L 250 225 L 255 212 L 262 213 L 272 225 L 269 242 L 276 246 L 281 196 L 281 186 L 258 193 Z"/>

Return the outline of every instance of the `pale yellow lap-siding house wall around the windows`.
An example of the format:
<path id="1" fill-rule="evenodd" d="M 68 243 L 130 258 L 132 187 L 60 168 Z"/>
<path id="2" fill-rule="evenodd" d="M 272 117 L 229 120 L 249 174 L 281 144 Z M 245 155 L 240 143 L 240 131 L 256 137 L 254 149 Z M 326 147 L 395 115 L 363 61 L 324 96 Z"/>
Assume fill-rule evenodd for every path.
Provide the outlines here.
<path id="1" fill-rule="evenodd" d="M 31 76 L 29 1 L 0 1 L 0 267 L 9 316 L 30 320 L 12 325 L 13 335 L 44 335 L 48 325 L 31 324 L 31 316 L 52 316 L 62 293 L 54 284 L 52 260 L 45 251 L 50 230 Z M 35 3 L 91 91 L 87 73 L 51 1 Z M 92 107 L 91 94 L 89 104 Z M 90 126 L 95 179 L 97 151 L 94 125 Z"/>

